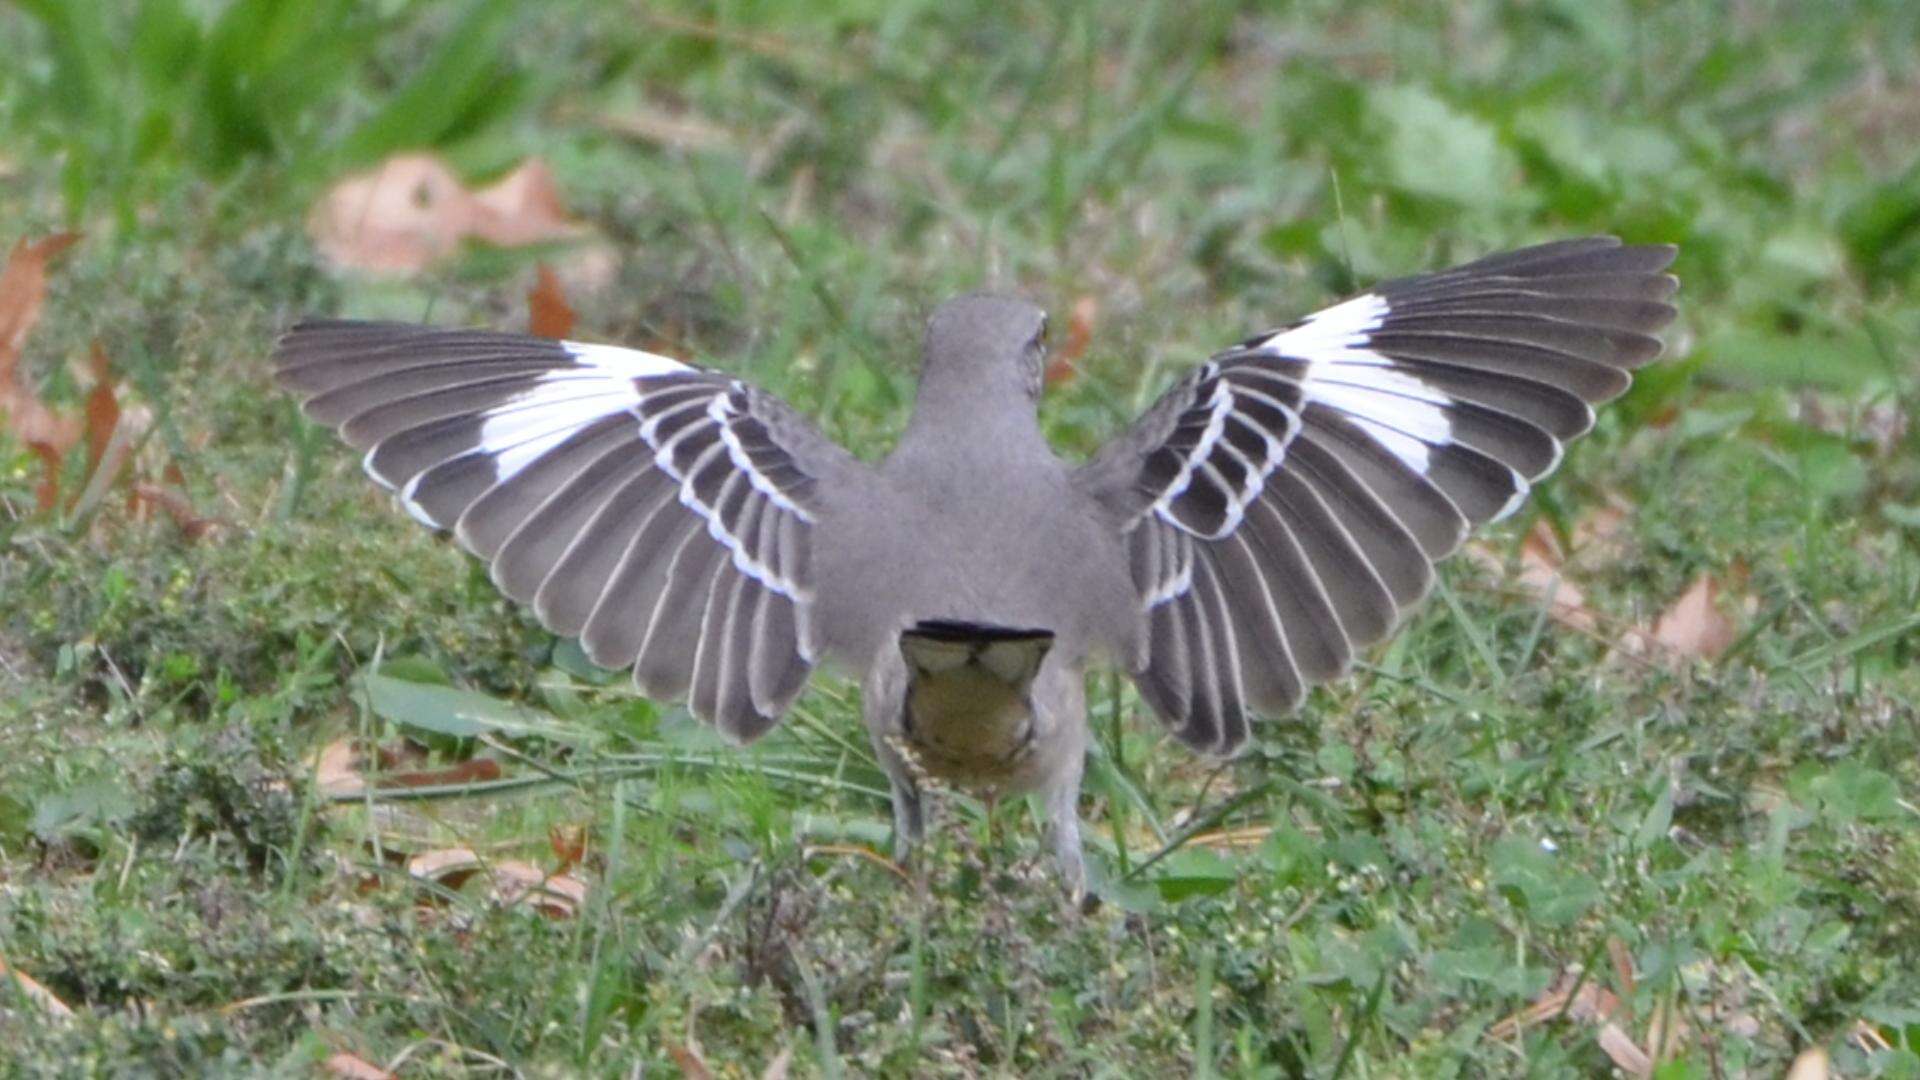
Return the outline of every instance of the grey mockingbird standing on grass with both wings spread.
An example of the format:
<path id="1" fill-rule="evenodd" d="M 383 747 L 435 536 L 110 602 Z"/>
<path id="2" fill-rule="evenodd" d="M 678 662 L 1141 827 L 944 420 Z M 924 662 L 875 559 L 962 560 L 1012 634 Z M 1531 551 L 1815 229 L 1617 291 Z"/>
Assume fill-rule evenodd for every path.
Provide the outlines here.
<path id="1" fill-rule="evenodd" d="M 1597 236 L 1377 284 L 1215 354 L 1085 465 L 1041 434 L 1046 315 L 927 321 L 877 465 L 732 375 L 605 344 L 307 321 L 278 377 L 420 523 L 735 742 L 862 676 L 902 846 L 922 780 L 1037 792 L 1083 888 L 1085 671 L 1233 755 L 1386 638 L 1475 525 L 1661 352 L 1668 246 Z"/>

